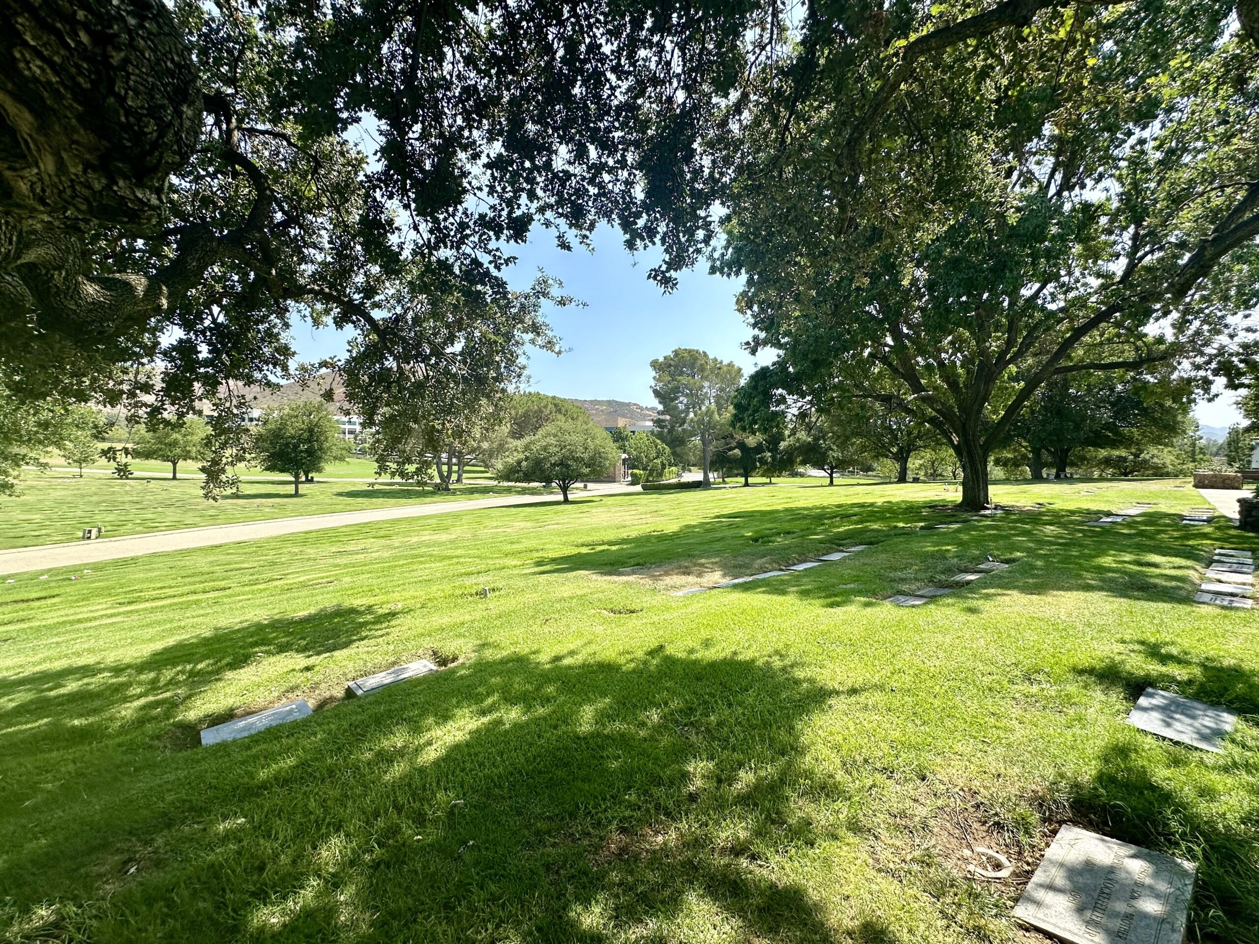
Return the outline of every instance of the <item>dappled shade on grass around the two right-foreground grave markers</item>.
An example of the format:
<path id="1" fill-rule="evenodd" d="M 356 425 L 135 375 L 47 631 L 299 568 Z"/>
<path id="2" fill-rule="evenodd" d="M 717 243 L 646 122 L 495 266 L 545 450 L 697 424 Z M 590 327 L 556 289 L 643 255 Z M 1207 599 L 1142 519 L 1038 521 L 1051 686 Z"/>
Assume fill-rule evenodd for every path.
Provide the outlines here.
<path id="1" fill-rule="evenodd" d="M 1191 920 L 1204 941 L 1259 941 L 1259 676 L 1236 663 L 1131 639 L 1132 658 L 1078 670 L 1136 702 L 1147 686 L 1228 707 L 1239 725 L 1222 755 L 1152 734 L 1115 740 L 1095 772 L 1068 785 L 1071 808 L 1099 832 L 1199 865 Z M 1225 794 L 1220 774 L 1241 780 Z M 1244 784 L 1249 782 L 1250 790 Z M 1239 807 L 1240 804 L 1240 807 Z M 1192 935 L 1191 935 L 1192 936 Z"/>

